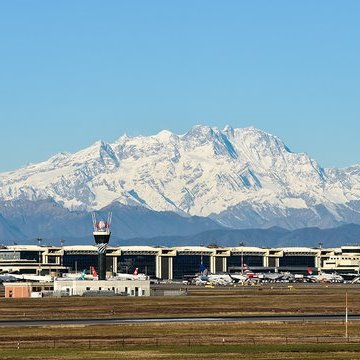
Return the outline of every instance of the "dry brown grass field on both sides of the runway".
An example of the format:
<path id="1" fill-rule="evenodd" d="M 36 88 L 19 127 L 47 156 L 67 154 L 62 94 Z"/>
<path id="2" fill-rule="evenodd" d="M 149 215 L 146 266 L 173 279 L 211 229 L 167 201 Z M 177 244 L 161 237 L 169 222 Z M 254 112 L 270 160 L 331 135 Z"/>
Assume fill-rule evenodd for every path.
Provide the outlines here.
<path id="1" fill-rule="evenodd" d="M 343 286 L 189 288 L 181 297 L 1 299 L 0 318 L 343 313 Z M 360 287 L 348 287 L 350 313 Z M 0 359 L 360 359 L 360 323 L 144 323 L 0 327 Z M 19 348 L 18 348 L 19 347 Z"/>

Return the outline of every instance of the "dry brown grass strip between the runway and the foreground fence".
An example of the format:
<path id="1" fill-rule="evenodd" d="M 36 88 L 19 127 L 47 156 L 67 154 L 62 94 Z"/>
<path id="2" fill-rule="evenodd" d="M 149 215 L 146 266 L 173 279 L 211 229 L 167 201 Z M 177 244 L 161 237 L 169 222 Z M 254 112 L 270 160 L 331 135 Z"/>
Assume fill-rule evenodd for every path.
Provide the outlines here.
<path id="1" fill-rule="evenodd" d="M 341 322 L 301 323 L 151 323 L 96 326 L 0 328 L 0 345 L 42 342 L 47 347 L 92 344 L 211 344 L 346 342 Z M 359 341 L 360 324 L 350 322 L 350 342 Z M 55 340 L 55 345 L 53 342 Z"/>

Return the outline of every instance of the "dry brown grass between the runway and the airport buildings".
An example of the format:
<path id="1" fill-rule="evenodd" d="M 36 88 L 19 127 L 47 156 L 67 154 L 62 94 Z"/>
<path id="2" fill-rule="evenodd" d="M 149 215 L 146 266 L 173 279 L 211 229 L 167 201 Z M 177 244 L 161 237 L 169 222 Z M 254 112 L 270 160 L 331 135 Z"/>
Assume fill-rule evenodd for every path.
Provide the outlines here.
<path id="1" fill-rule="evenodd" d="M 156 317 L 286 313 L 338 313 L 345 286 L 269 285 L 192 288 L 182 297 L 0 299 L 0 319 Z M 360 287 L 350 286 L 350 312 L 360 312 Z"/>

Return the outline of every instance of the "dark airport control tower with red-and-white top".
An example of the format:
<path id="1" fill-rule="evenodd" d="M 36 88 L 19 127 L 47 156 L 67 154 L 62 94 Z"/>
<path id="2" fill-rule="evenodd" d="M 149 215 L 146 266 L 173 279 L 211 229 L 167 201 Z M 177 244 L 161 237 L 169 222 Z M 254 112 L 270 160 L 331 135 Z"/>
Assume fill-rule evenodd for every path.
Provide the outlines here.
<path id="1" fill-rule="evenodd" d="M 109 212 L 107 221 L 96 219 L 96 214 L 92 213 L 93 235 L 98 248 L 98 271 L 99 280 L 106 280 L 106 248 L 110 240 L 110 224 L 112 213 Z"/>

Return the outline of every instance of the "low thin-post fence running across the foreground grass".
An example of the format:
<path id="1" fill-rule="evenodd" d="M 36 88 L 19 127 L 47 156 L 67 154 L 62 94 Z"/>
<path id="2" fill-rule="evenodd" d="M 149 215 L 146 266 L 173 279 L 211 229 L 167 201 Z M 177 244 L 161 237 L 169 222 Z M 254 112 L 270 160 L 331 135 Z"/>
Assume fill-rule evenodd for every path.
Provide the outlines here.
<path id="1" fill-rule="evenodd" d="M 132 346 L 166 346 L 166 345 L 240 345 L 240 344 L 345 344 L 360 343 L 360 337 L 344 336 L 163 336 L 163 337 L 116 337 L 91 339 L 0 339 L 0 348 L 119 348 Z"/>

